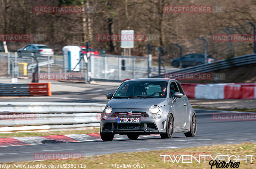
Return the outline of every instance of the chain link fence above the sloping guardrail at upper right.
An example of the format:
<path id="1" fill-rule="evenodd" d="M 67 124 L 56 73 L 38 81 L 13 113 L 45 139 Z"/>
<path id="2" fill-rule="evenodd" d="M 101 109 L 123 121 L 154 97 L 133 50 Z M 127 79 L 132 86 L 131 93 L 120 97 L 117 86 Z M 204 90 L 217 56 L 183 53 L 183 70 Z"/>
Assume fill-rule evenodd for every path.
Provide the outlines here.
<path id="1" fill-rule="evenodd" d="M 252 22 L 256 26 L 256 22 Z M 238 57 L 246 54 L 254 53 L 254 40 L 250 41 L 231 41 L 231 48 L 229 41 L 214 41 L 213 35 L 229 35 L 230 34 L 250 34 L 254 35 L 253 26 L 250 23 L 243 25 L 236 25 L 226 29 L 221 29 L 214 33 L 203 36 L 207 42 L 207 54 L 212 55 L 216 60 L 223 60 L 232 57 Z M 187 40 L 178 45 L 182 49 L 182 56 L 189 53 L 202 53 L 204 54 L 205 44 L 201 37 L 196 39 Z M 161 59 L 164 66 L 170 66 L 170 61 L 174 58 L 180 57 L 180 49 L 176 44 L 161 46 L 158 48 L 161 51 Z"/>

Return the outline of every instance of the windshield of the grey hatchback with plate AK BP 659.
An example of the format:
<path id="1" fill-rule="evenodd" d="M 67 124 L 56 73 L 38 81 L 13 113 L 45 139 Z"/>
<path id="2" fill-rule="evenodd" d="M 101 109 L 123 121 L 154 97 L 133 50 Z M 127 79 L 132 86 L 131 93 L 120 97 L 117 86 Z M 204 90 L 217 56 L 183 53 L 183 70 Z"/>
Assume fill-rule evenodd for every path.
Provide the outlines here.
<path id="1" fill-rule="evenodd" d="M 124 82 L 113 98 L 166 98 L 166 81 Z"/>

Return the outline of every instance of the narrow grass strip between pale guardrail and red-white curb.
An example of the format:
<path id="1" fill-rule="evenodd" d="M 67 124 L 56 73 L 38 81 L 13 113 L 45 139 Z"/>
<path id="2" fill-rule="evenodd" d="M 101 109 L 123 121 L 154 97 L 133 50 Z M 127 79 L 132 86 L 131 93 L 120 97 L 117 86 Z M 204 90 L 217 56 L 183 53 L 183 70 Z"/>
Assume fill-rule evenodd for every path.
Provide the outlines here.
<path id="1" fill-rule="evenodd" d="M 66 135 L 66 134 L 89 134 L 89 133 L 98 133 L 98 132 L 100 132 L 100 128 L 93 128 L 93 129 L 86 129 L 86 130 L 48 131 L 48 132 L 0 133 L 0 138 L 29 137 L 29 136 L 52 136 L 52 135 Z"/>

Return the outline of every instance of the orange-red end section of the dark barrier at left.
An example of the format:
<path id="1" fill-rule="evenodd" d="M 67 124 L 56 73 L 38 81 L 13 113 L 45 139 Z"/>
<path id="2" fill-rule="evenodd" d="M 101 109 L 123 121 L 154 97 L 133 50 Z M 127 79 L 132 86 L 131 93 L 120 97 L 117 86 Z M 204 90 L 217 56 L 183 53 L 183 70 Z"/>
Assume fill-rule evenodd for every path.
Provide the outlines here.
<path id="1" fill-rule="evenodd" d="M 51 83 L 29 83 L 29 95 L 51 96 Z"/>

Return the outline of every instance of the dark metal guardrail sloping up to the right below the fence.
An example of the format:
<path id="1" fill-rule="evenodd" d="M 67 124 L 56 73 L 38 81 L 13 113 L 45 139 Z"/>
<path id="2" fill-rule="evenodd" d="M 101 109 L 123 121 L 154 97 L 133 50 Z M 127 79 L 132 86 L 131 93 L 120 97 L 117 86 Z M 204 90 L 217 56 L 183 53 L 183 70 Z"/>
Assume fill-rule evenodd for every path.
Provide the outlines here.
<path id="1" fill-rule="evenodd" d="M 252 64 L 256 63 L 256 54 L 249 54 L 249 55 L 244 55 L 232 59 L 225 59 L 225 60 L 219 60 L 213 63 L 207 63 L 203 65 L 198 65 L 198 66 L 193 66 L 169 73 L 206 73 L 206 72 L 211 72 L 219 69 L 224 69 L 224 68 L 229 68 L 229 67 L 234 67 L 234 66 L 241 66 L 241 65 L 246 65 L 246 64 Z M 166 73 L 168 74 L 168 73 Z M 157 75 L 154 77 L 163 77 L 163 75 Z"/>

